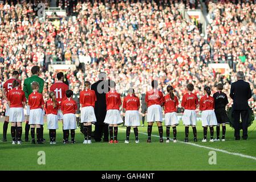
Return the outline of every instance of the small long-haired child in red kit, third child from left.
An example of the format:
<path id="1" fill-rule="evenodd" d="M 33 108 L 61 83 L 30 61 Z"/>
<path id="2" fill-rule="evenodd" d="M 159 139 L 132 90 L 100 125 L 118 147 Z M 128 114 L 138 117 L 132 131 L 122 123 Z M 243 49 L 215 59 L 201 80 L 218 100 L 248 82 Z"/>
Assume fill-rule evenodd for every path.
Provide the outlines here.
<path id="1" fill-rule="evenodd" d="M 46 101 L 44 110 L 47 114 L 47 127 L 49 130 L 50 144 L 56 144 L 56 129 L 59 129 L 58 126 L 58 110 L 59 102 L 56 100 L 54 92 L 50 92 L 50 99 Z"/>

